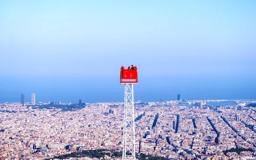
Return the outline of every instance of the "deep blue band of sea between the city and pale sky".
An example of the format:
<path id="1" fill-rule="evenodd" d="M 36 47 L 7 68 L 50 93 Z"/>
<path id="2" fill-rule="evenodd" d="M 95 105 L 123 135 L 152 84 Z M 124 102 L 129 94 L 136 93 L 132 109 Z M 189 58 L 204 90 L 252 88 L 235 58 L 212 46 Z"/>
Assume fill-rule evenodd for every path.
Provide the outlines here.
<path id="1" fill-rule="evenodd" d="M 0 80 L 0 103 L 19 102 L 21 93 L 25 93 L 25 102 L 31 101 L 31 93 L 36 94 L 36 102 L 78 102 L 78 99 L 89 103 L 122 102 L 124 99 L 124 85 L 119 84 L 119 73 L 113 77 L 105 76 L 105 79 L 79 75 L 5 78 L 1 77 Z M 178 94 L 187 100 L 255 99 L 255 80 L 255 74 L 251 73 L 239 76 L 237 73 L 224 73 L 150 77 L 140 76 L 139 72 L 139 83 L 134 84 L 134 100 L 176 100 Z"/>

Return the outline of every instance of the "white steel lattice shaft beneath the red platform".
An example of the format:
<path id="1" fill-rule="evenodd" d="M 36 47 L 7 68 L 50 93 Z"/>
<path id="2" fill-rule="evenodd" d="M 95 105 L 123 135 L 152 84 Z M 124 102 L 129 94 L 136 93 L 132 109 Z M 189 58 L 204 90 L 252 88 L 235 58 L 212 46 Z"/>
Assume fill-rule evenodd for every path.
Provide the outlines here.
<path id="1" fill-rule="evenodd" d="M 135 160 L 133 84 L 124 84 L 123 160 Z"/>

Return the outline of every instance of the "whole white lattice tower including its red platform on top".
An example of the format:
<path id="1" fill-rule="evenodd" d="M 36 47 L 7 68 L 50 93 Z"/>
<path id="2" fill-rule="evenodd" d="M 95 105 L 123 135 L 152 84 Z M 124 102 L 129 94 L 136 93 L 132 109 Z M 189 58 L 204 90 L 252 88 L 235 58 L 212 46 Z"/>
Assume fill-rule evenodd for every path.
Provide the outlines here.
<path id="1" fill-rule="evenodd" d="M 137 67 L 124 68 L 122 66 L 120 83 L 124 84 L 123 160 L 135 160 L 133 84 L 138 83 Z"/>

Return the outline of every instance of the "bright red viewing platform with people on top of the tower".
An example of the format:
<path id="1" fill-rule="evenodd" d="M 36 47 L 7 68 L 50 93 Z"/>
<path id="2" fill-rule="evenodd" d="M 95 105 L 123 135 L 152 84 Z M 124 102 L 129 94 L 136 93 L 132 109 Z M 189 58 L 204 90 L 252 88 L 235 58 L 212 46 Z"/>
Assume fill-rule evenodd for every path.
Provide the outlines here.
<path id="1" fill-rule="evenodd" d="M 122 66 L 120 83 L 138 83 L 138 68 L 135 66 L 129 69 Z"/>

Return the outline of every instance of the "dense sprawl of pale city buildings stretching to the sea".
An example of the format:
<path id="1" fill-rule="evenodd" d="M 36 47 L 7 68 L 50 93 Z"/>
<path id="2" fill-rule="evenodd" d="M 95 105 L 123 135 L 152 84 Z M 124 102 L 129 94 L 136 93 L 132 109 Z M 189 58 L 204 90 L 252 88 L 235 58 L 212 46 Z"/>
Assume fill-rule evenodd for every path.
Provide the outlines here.
<path id="1" fill-rule="evenodd" d="M 165 159 L 255 159 L 256 101 L 208 102 L 180 95 L 172 101 L 135 102 L 136 153 Z M 31 103 L 25 103 L 22 93 L 20 103 L 0 106 L 0 159 L 60 159 L 98 149 L 105 150 L 104 159 L 122 159 L 122 154 L 113 155 L 122 151 L 123 102 L 36 103 L 33 93 Z"/>

